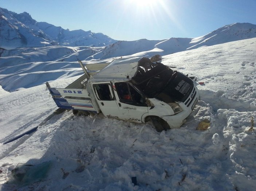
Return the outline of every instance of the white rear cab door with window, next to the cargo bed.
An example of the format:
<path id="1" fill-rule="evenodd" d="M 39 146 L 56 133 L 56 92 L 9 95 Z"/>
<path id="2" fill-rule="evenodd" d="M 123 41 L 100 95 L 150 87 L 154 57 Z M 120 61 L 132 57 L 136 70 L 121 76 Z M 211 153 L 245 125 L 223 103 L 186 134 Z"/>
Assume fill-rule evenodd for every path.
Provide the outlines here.
<path id="1" fill-rule="evenodd" d="M 110 82 L 93 83 L 93 92 L 99 104 L 99 107 L 106 117 L 118 118 L 118 107 Z"/>

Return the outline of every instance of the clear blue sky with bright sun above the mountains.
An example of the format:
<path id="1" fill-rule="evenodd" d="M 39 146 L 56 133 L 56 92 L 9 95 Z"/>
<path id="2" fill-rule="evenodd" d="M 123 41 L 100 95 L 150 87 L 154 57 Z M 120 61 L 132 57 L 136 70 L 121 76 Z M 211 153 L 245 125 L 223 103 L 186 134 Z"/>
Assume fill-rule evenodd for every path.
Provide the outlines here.
<path id="1" fill-rule="evenodd" d="M 235 22 L 256 24 L 256 0 L 0 0 L 0 7 L 127 41 L 193 38 Z"/>

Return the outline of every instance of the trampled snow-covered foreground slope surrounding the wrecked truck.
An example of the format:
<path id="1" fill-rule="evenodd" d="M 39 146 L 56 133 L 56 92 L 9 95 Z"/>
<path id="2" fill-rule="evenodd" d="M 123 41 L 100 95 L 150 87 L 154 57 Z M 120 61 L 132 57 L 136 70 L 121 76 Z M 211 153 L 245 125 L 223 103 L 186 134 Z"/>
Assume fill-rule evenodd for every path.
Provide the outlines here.
<path id="1" fill-rule="evenodd" d="M 256 190 L 256 130 L 249 131 L 256 119 L 255 55 L 256 38 L 251 38 L 164 56 L 162 63 L 197 76 L 201 100 L 181 128 L 161 133 L 150 124 L 71 111 L 43 123 L 57 109 L 45 85 L 35 86 L 33 78 L 34 87 L 21 88 L 28 81 L 20 78 L 19 91 L 0 88 L 1 190 Z M 51 86 L 65 87 L 76 78 L 63 75 Z M 210 127 L 196 130 L 203 119 Z M 3 145 L 37 125 L 35 133 Z M 42 181 L 24 187 L 7 183 L 18 163 L 46 161 L 51 167 Z"/>

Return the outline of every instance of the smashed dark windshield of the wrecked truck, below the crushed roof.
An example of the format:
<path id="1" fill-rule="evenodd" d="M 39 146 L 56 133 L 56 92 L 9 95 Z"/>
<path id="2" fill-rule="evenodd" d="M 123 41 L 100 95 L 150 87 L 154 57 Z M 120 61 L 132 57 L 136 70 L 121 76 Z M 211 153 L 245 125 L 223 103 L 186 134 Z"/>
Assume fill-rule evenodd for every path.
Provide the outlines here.
<path id="1" fill-rule="evenodd" d="M 151 63 L 146 67 L 139 65 L 137 74 L 132 78 L 132 82 L 147 97 L 153 98 L 167 86 L 173 70 L 159 62 Z"/>

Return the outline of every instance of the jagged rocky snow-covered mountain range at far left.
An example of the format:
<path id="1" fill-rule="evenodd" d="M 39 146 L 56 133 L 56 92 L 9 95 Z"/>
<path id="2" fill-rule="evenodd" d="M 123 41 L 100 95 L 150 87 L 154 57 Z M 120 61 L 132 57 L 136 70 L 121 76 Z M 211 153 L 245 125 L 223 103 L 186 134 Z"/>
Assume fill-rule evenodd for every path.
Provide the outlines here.
<path id="1" fill-rule="evenodd" d="M 14 13 L 0 8 L 0 47 L 106 46 L 116 42 L 102 33 L 65 30 L 47 22 L 37 22 L 27 12 Z"/>

